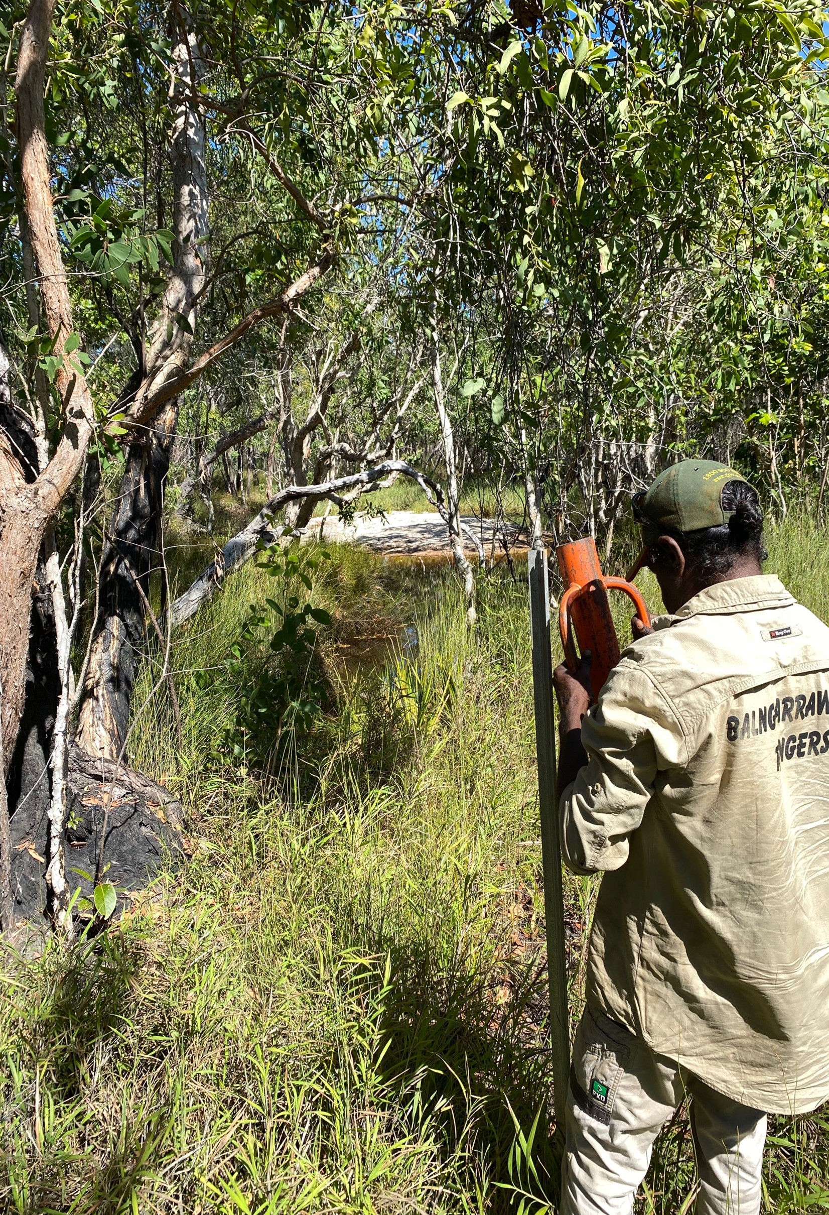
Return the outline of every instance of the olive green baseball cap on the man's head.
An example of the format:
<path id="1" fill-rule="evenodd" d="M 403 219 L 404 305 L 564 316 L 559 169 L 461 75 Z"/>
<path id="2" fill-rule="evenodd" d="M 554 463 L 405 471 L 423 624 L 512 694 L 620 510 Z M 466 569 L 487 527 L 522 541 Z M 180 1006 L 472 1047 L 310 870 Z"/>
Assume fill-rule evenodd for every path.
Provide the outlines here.
<path id="1" fill-rule="evenodd" d="M 671 464 L 645 493 L 634 497 L 634 516 L 648 527 L 699 531 L 727 524 L 733 510 L 722 509 L 722 488 L 745 477 L 712 459 L 683 459 Z"/>

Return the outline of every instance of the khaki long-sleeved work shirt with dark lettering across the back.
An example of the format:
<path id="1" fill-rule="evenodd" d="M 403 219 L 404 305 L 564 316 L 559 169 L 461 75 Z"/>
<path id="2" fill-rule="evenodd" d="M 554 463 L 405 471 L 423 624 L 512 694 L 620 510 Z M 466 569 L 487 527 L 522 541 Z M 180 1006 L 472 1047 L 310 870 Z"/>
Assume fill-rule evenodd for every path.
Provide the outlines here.
<path id="1" fill-rule="evenodd" d="M 771 576 L 654 621 L 611 673 L 561 797 L 606 870 L 587 999 L 712 1089 L 829 1097 L 829 628 Z"/>

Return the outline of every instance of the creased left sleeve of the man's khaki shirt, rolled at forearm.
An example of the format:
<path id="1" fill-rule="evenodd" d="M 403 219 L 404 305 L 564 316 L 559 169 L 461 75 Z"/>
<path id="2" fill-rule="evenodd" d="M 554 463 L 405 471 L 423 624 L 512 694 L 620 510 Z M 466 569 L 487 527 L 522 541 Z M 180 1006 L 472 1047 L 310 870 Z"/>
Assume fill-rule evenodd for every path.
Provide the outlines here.
<path id="1" fill-rule="evenodd" d="M 623 659 L 584 718 L 581 742 L 587 763 L 558 803 L 564 861 L 577 874 L 620 869 L 658 773 L 688 762 L 686 739 L 664 694 Z"/>

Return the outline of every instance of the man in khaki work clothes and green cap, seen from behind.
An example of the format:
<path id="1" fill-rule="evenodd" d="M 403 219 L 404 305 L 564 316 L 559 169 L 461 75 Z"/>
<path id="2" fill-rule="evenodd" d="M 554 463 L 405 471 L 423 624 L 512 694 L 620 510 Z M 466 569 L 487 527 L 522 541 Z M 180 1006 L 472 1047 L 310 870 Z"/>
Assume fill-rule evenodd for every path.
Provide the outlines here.
<path id="1" fill-rule="evenodd" d="M 555 673 L 567 864 L 604 871 L 573 1049 L 562 1215 L 626 1215 L 687 1095 L 697 1215 L 760 1210 L 766 1112 L 829 1096 L 829 629 L 763 575 L 733 469 L 634 499 L 666 616 L 589 707 Z"/>

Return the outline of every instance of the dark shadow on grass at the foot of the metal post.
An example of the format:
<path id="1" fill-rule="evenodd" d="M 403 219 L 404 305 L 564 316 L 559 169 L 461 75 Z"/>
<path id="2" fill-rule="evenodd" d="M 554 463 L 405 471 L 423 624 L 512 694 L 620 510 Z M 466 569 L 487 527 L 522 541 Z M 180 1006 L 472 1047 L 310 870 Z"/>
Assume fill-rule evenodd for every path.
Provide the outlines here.
<path id="1" fill-rule="evenodd" d="M 473 1148 L 470 1188 L 487 1177 L 489 1211 L 522 1197 L 524 1210 L 540 1210 L 558 1192 L 544 953 L 484 978 L 462 959 L 447 972 L 428 948 L 392 946 L 390 959 L 385 1076 L 399 1089 L 421 1078 L 424 1106 L 442 1111 L 443 1153 L 456 1160 Z M 516 1152 L 517 1128 L 529 1136 L 534 1124 L 530 1166 Z"/>

